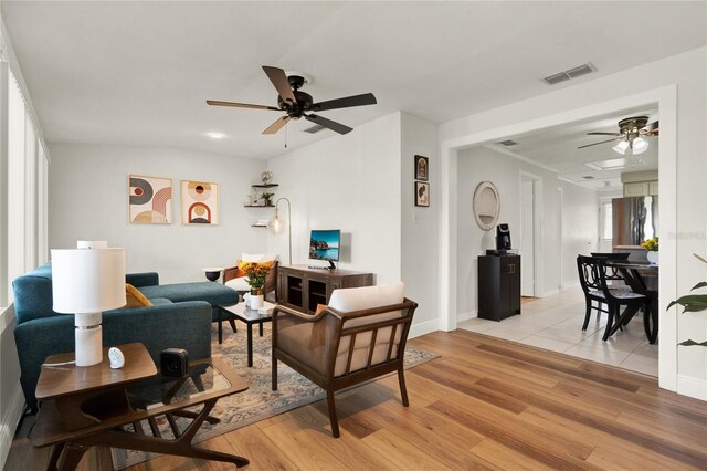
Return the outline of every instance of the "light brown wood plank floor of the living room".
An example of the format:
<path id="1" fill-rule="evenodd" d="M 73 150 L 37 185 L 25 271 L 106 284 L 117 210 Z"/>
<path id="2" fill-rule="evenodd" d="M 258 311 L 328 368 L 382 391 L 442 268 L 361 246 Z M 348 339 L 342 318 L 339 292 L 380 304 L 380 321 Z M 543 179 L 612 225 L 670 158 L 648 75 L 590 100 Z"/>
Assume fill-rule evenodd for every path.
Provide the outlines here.
<path id="1" fill-rule="evenodd" d="M 405 373 L 409 408 L 392 376 L 337 396 L 339 439 L 317 402 L 205 446 L 253 470 L 707 469 L 707 402 L 654 378 L 464 331 L 410 343 L 442 357 Z M 48 458 L 18 439 L 6 469 L 44 469 Z M 80 465 L 106 469 L 107 450 Z M 233 467 L 162 457 L 130 469 Z"/>

